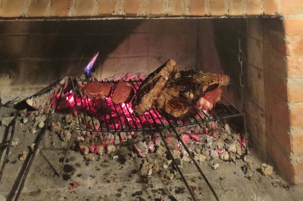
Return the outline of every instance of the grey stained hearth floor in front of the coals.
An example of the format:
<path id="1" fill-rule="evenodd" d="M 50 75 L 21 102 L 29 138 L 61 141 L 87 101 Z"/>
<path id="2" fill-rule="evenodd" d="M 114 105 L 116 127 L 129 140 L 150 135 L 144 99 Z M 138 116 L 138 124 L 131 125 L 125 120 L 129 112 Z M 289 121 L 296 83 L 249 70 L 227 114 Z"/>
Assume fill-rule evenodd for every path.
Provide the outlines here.
<path id="1" fill-rule="evenodd" d="M 11 148 L 0 183 L 0 200 L 1 195 L 7 197 L 7 200 L 14 197 L 16 186 L 20 183 L 19 173 L 24 164 L 24 161 L 18 160 L 18 154 L 28 151 L 27 147 L 36 138 L 36 135 L 25 135 L 23 133 L 25 129 L 25 126 L 20 127 L 20 121 L 17 120 L 15 138 L 21 143 Z M 1 137 L 5 132 L 6 127 L 0 126 Z M 166 194 L 162 199 L 164 201 L 192 200 L 178 173 L 173 180 L 164 178 L 166 172 L 141 176 L 139 170 L 143 160 L 132 159 L 127 147 L 121 147 L 118 160 L 104 154 L 100 160 L 89 163 L 80 153 L 70 151 L 64 168 L 65 179 L 62 179 L 56 176 L 56 172 L 60 170 L 67 143 L 62 142 L 55 133 L 47 131 L 41 145 L 42 148 L 34 159 L 19 200 L 147 201 L 161 200 L 164 194 Z M 4 154 L 1 159 L 3 158 Z M 254 157 L 250 158 L 254 161 L 255 169 L 260 167 L 260 163 Z M 13 164 L 14 161 L 17 162 Z M 276 173 L 273 173 L 272 177 L 265 177 L 256 170 L 252 173 L 255 180 L 248 180 L 241 170 L 244 164 L 242 161 L 238 160 L 234 164 L 218 160 L 218 163 L 219 168 L 216 170 L 211 169 L 206 162 L 200 167 L 214 186 L 220 200 L 303 200 L 300 193 L 302 186 L 291 186 L 290 189 L 274 187 L 271 182 L 276 178 L 285 183 Z M 198 200 L 215 200 L 193 164 L 184 164 L 182 171 L 189 185 L 197 186 L 194 192 Z M 221 180 L 220 177 L 224 178 Z M 69 186 L 73 181 L 81 184 L 70 190 Z"/>

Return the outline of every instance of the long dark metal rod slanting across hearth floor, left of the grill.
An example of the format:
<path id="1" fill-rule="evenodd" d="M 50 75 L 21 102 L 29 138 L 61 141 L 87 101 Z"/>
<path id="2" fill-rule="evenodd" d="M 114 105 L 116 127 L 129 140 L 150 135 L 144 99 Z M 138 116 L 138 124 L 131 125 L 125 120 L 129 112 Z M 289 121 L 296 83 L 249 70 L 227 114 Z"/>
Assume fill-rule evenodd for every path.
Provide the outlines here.
<path id="1" fill-rule="evenodd" d="M 48 117 L 49 117 L 49 113 L 48 113 L 48 115 L 47 115 L 47 119 L 46 119 L 46 121 L 45 121 L 45 125 L 44 125 L 44 127 L 41 129 L 41 131 L 40 131 L 38 141 L 37 141 L 37 143 L 35 144 L 35 147 L 34 147 L 34 150 L 33 150 L 32 154 L 31 154 L 31 156 L 30 156 L 28 165 L 27 165 L 27 167 L 26 167 L 26 169 L 25 169 L 25 172 L 24 172 L 24 174 L 23 174 L 23 178 L 22 178 L 21 184 L 20 184 L 20 186 L 19 186 L 17 195 L 16 195 L 16 197 L 15 197 L 15 201 L 18 200 L 18 198 L 19 198 L 19 196 L 20 196 L 20 194 L 21 194 L 21 191 L 22 191 L 22 189 L 23 189 L 23 187 L 24 187 L 24 183 L 25 183 L 25 180 L 26 180 L 27 175 L 28 175 L 28 173 L 29 173 L 29 170 L 30 170 L 30 168 L 31 168 L 31 165 L 32 165 L 32 163 L 33 163 L 33 161 L 34 161 L 34 158 L 35 158 L 36 154 L 37 154 L 37 151 L 38 151 L 38 148 L 39 148 L 39 146 L 40 146 L 40 143 L 41 143 L 41 141 L 43 140 L 44 134 L 45 134 L 45 132 L 46 132 L 47 124 L 48 124 Z"/>

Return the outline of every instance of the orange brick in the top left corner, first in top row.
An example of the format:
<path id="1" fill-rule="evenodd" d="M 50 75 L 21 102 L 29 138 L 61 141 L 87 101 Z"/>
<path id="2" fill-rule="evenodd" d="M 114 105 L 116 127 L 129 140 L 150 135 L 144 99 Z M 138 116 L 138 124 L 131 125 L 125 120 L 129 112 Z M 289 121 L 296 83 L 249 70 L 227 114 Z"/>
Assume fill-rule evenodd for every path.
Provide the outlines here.
<path id="1" fill-rule="evenodd" d="M 3 17 L 19 17 L 24 9 L 24 0 L 3 0 L 1 9 Z"/>

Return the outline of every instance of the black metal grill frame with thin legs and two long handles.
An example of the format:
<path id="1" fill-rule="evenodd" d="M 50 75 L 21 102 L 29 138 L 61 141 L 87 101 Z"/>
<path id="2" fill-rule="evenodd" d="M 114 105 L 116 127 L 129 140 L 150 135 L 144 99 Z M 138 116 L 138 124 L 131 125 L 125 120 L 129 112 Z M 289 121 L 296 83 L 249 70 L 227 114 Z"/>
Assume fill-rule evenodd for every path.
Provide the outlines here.
<path id="1" fill-rule="evenodd" d="M 178 123 L 178 119 L 173 119 L 173 120 L 171 120 L 171 119 L 168 117 L 168 115 L 165 115 L 164 118 L 165 118 L 165 120 L 168 122 L 168 125 L 165 125 L 164 122 L 163 122 L 163 121 L 161 120 L 161 118 L 159 117 L 159 112 L 158 112 L 157 110 L 155 110 L 155 109 L 151 109 L 151 110 L 149 110 L 148 112 L 145 112 L 145 114 L 144 114 L 144 118 L 146 119 L 146 122 L 147 122 L 147 124 L 148 124 L 148 127 L 144 127 L 143 124 L 142 124 L 142 119 L 141 119 L 141 117 L 138 117 L 139 119 L 141 119 L 141 120 L 139 120 L 139 122 L 142 124 L 142 128 L 141 128 L 141 129 L 138 128 L 137 126 L 135 126 L 135 129 L 134 129 L 134 128 L 133 128 L 133 129 L 131 129 L 131 128 L 125 129 L 125 128 L 123 128 L 123 126 L 122 126 L 123 129 L 117 129 L 114 123 L 113 123 L 113 125 L 114 125 L 115 129 L 106 129 L 106 130 L 103 130 L 103 129 L 95 129 L 96 127 L 95 127 L 95 125 L 94 125 L 93 120 L 92 120 L 92 126 L 93 126 L 94 129 L 89 129 L 89 128 L 87 127 L 87 123 L 86 123 L 87 120 L 86 120 L 86 116 L 85 116 L 85 112 L 84 112 L 84 111 L 83 111 L 83 116 L 84 116 L 86 128 L 81 128 L 80 115 L 79 115 L 79 110 L 78 110 L 78 106 L 77 106 L 77 102 L 76 102 L 76 101 L 77 101 L 77 97 L 76 97 L 76 88 L 75 88 L 75 85 L 74 85 L 74 82 L 73 82 L 74 79 L 73 79 L 72 77 L 70 77 L 70 80 L 72 81 L 71 83 L 72 83 L 73 91 L 74 91 L 75 108 L 76 108 L 76 111 L 77 111 L 77 118 L 78 118 L 79 126 L 80 126 L 80 127 L 74 128 L 74 130 L 72 131 L 71 139 L 70 139 L 70 141 L 69 141 L 69 144 L 68 144 L 68 147 L 67 147 L 67 150 L 66 150 L 66 153 L 65 153 L 65 157 L 64 157 L 63 163 L 62 163 L 62 165 L 61 165 L 61 169 L 60 169 L 59 175 L 58 175 L 59 178 L 60 178 L 61 175 L 62 175 L 63 167 L 64 167 L 64 165 L 65 165 L 65 162 L 66 162 L 66 159 L 67 159 L 67 156 L 68 156 L 68 152 L 69 152 L 69 150 L 70 150 L 70 147 L 71 147 L 71 144 L 72 144 L 72 141 L 73 141 L 73 136 L 75 135 L 75 132 L 76 132 L 76 131 L 92 131 L 92 132 L 131 132 L 131 131 L 140 131 L 140 130 L 145 130 L 145 131 L 148 131 L 148 130 L 149 130 L 149 131 L 151 131 L 151 130 L 157 130 L 157 131 L 159 131 L 162 140 L 165 142 L 165 139 L 164 139 L 164 137 L 163 137 L 162 130 L 163 130 L 163 129 L 171 128 L 171 129 L 174 131 L 174 133 L 175 133 L 175 135 L 176 135 L 178 141 L 182 144 L 182 146 L 184 147 L 184 149 L 185 149 L 186 152 L 188 153 L 190 159 L 193 161 L 193 163 L 194 163 L 195 167 L 197 168 L 197 170 L 199 171 L 200 175 L 204 178 L 205 182 L 206 182 L 207 185 L 209 186 L 209 188 L 210 188 L 210 190 L 212 191 L 213 195 L 215 196 L 216 200 L 219 200 L 219 196 L 218 196 L 217 192 L 215 191 L 215 189 L 213 188 L 213 186 L 211 185 L 211 183 L 209 182 L 209 180 L 207 179 L 206 175 L 203 173 L 203 171 L 201 170 L 201 168 L 199 167 L 199 165 L 197 164 L 197 162 L 194 160 L 192 154 L 190 153 L 190 151 L 188 150 L 188 148 L 186 147 L 186 145 L 185 145 L 184 142 L 182 141 L 182 139 L 181 139 L 181 137 L 180 137 L 180 134 L 177 132 L 177 130 L 176 130 L 175 128 L 176 128 L 176 127 L 182 127 L 182 126 L 188 126 L 188 125 L 200 125 L 200 124 L 207 123 L 207 122 L 209 122 L 209 121 L 218 121 L 218 120 L 229 119 L 229 118 L 234 118 L 234 117 L 242 117 L 242 118 L 243 118 L 243 122 L 244 122 L 244 128 L 246 128 L 244 115 L 243 115 L 240 111 L 238 111 L 238 110 L 236 109 L 236 107 L 234 107 L 227 99 L 225 99 L 225 98 L 222 96 L 221 100 L 216 104 L 216 106 L 215 106 L 212 110 L 209 110 L 210 114 L 207 114 L 205 111 L 200 110 L 200 111 L 203 113 L 203 115 L 205 116 L 205 118 L 201 117 L 200 114 L 197 112 L 198 109 L 196 109 L 196 108 L 193 107 L 193 110 L 192 110 L 192 111 L 194 111 L 194 112 L 199 116 L 199 118 L 200 118 L 200 120 L 198 120 L 198 119 L 196 119 L 196 117 L 195 117 L 194 115 L 191 115 L 191 117 L 193 118 L 193 122 L 190 122 L 190 119 L 189 119 L 188 116 L 186 116 L 185 118 L 188 118 L 188 121 L 189 121 L 189 122 L 184 123 L 183 120 L 181 119 L 181 122 L 182 122 L 182 123 Z M 78 80 L 77 80 L 76 78 L 75 78 L 75 80 L 76 80 L 77 83 L 78 83 Z M 87 78 L 86 78 L 86 81 L 88 82 L 88 79 L 87 79 Z M 116 84 L 118 81 L 101 81 L 101 82 L 109 83 L 109 84 L 113 84 L 113 83 Z M 138 83 L 138 82 L 142 82 L 142 80 L 139 80 L 139 81 L 132 81 L 132 80 L 129 80 L 128 82 L 130 82 L 130 83 L 132 84 L 132 86 L 134 87 L 135 92 L 136 92 L 136 90 L 137 90 L 138 87 L 139 87 L 139 85 L 138 85 L 137 83 Z M 134 85 L 134 83 L 136 83 L 137 87 Z M 111 96 L 112 96 L 113 89 L 114 89 L 114 88 L 112 87 L 112 92 L 111 92 L 110 98 L 111 98 Z M 58 105 L 60 104 L 60 99 L 62 98 L 62 94 L 63 94 L 62 92 L 63 92 L 63 90 L 64 90 L 64 89 L 62 89 L 62 91 L 61 91 Z M 78 95 L 79 95 L 79 94 L 78 94 Z M 80 96 L 81 96 L 81 95 L 80 95 Z M 80 100 L 81 100 L 81 106 L 83 107 L 82 96 L 81 96 Z M 88 99 L 87 96 L 86 96 L 86 100 L 87 100 L 87 102 L 88 102 L 89 113 L 92 113 L 92 112 L 91 112 L 90 105 L 89 105 L 89 99 Z M 93 101 L 94 101 L 94 104 L 96 105 L 96 99 L 95 99 L 95 98 L 93 98 Z M 99 101 L 100 101 L 100 100 L 99 100 Z M 225 103 L 225 104 L 224 104 L 224 103 Z M 107 106 L 108 106 L 107 100 L 106 100 L 106 104 L 107 104 Z M 227 104 L 228 104 L 228 106 L 227 106 Z M 58 105 L 57 105 L 57 107 L 58 107 Z M 113 105 L 114 105 L 114 110 L 115 110 L 116 112 L 118 112 L 117 106 L 116 106 L 115 104 L 113 104 Z M 230 112 L 230 114 L 228 114 L 226 111 L 224 112 L 224 113 L 226 114 L 226 116 L 222 116 L 222 114 L 219 114 L 219 112 L 218 112 L 217 109 L 216 109 L 216 107 L 218 107 L 218 105 L 223 106 L 227 111 Z M 122 114 L 123 114 L 124 117 L 126 118 L 125 113 L 124 113 L 123 108 L 122 108 L 122 104 L 120 103 L 119 106 L 120 106 L 120 108 L 122 109 Z M 230 107 L 231 107 L 231 108 L 230 108 Z M 127 108 L 128 112 L 129 112 L 129 108 L 128 108 L 127 106 L 126 106 L 126 108 Z M 233 111 L 233 110 L 234 110 L 234 111 Z M 155 114 L 156 114 L 157 118 L 159 118 L 161 124 L 159 124 L 159 123 L 156 122 L 155 115 L 151 114 L 151 111 L 154 111 L 154 112 L 155 112 Z M 217 116 L 217 114 L 215 114 L 215 112 L 218 113 L 218 116 L 219 116 L 219 117 Z M 129 113 L 130 113 L 130 112 L 129 112 Z M 150 118 L 153 120 L 153 123 L 155 123 L 155 126 L 154 126 L 154 127 L 151 127 L 151 126 L 150 126 L 150 123 L 148 122 L 147 117 L 146 117 L 146 113 L 150 115 Z M 132 115 L 131 115 L 131 116 L 132 116 Z M 211 116 L 212 116 L 213 118 L 211 118 Z M 100 123 L 100 126 L 101 126 L 101 125 L 102 125 L 102 122 L 100 121 L 100 118 L 99 118 L 99 114 L 98 114 L 98 113 L 97 113 L 97 117 L 98 117 L 98 120 L 99 120 L 99 123 Z M 90 118 L 93 119 L 92 116 L 90 116 Z M 132 118 L 132 120 L 134 120 L 134 119 L 133 119 L 134 116 L 132 116 L 131 118 Z M 105 119 L 106 119 L 106 117 L 105 117 Z M 127 119 L 127 118 L 126 118 L 126 119 Z M 114 122 L 113 119 L 111 119 L 111 120 Z M 180 119 L 179 119 L 179 120 L 180 120 Z M 119 122 L 122 124 L 122 121 L 121 121 L 120 117 L 119 117 Z M 128 122 L 128 121 L 126 121 L 126 122 Z M 108 122 L 106 122 L 106 124 L 107 124 L 107 126 L 108 126 Z M 129 124 L 129 122 L 128 122 L 128 124 Z M 109 128 L 109 126 L 108 126 L 108 128 Z M 246 138 L 246 129 L 245 129 L 245 138 Z M 188 191 L 189 191 L 189 193 L 190 193 L 192 199 L 193 199 L 194 201 L 196 201 L 197 199 L 195 198 L 193 192 L 191 191 L 191 189 L 190 189 L 190 187 L 189 187 L 189 185 L 188 185 L 188 183 L 187 183 L 187 181 L 186 181 L 186 179 L 185 179 L 185 177 L 184 177 L 184 175 L 183 175 L 181 169 L 178 167 L 178 165 L 177 165 L 177 163 L 176 163 L 176 161 L 175 161 L 173 155 L 171 154 L 171 152 L 170 152 L 170 150 L 169 150 L 169 148 L 168 148 L 167 143 L 164 143 L 164 144 L 165 144 L 166 150 L 168 151 L 168 153 L 169 153 L 169 155 L 170 155 L 170 158 L 171 158 L 172 161 L 173 161 L 173 164 L 174 164 L 175 168 L 177 169 L 177 171 L 179 172 L 180 176 L 182 177 L 182 180 L 183 180 L 183 182 L 184 182 L 186 188 L 188 189 Z M 248 154 L 247 144 L 246 144 L 246 154 Z"/>

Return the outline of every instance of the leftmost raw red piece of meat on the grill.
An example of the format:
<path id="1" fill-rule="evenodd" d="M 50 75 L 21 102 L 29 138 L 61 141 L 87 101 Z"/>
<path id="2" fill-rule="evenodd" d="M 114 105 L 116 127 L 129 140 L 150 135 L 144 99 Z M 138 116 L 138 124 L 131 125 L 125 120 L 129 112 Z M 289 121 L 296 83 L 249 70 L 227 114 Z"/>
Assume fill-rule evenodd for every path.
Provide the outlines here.
<path id="1" fill-rule="evenodd" d="M 80 85 L 80 91 L 89 98 L 106 98 L 110 95 L 111 89 L 111 84 L 97 81 Z"/>

